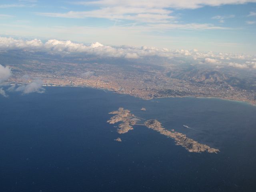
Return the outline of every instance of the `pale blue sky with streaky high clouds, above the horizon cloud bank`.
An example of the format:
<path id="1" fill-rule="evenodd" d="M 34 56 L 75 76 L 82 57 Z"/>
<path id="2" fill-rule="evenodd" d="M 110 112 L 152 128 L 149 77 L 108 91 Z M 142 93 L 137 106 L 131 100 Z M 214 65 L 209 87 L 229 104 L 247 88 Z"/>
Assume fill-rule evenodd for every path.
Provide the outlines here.
<path id="1" fill-rule="evenodd" d="M 1 0 L 0 36 L 256 54 L 256 0 Z"/>

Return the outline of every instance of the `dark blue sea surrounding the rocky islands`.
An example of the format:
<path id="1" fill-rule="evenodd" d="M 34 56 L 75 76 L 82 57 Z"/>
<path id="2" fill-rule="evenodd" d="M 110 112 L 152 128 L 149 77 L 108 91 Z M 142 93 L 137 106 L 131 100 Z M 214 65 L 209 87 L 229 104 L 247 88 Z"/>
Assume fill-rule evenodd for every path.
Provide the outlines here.
<path id="1" fill-rule="evenodd" d="M 145 126 L 119 135 L 106 121 L 120 106 L 220 152 L 190 153 Z M 255 191 L 256 107 L 245 102 L 76 87 L 0 97 L 0 192 Z"/>

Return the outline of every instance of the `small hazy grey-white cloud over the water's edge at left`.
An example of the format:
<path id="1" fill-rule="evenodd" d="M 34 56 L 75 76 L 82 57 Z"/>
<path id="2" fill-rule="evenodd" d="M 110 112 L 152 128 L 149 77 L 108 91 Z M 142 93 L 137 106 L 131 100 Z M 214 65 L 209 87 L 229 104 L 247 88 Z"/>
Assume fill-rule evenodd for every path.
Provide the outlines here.
<path id="1" fill-rule="evenodd" d="M 16 88 L 16 91 L 23 92 L 24 94 L 29 93 L 44 93 L 45 89 L 42 87 L 42 80 L 34 80 L 31 83 Z"/>

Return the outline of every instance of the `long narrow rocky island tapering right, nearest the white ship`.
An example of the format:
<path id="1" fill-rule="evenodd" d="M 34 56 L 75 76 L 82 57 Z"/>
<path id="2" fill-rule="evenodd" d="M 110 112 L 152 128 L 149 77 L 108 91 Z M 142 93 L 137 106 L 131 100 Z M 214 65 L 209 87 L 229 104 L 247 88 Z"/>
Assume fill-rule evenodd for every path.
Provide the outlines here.
<path id="1" fill-rule="evenodd" d="M 220 152 L 218 149 L 210 148 L 209 146 L 205 144 L 200 144 L 190 138 L 187 138 L 186 135 L 176 132 L 174 130 L 168 131 L 165 128 L 162 127 L 161 123 L 157 121 L 156 119 L 150 119 L 145 122 L 145 125 L 155 131 L 160 132 L 160 134 L 163 134 L 167 137 L 170 137 L 175 140 L 176 145 L 180 145 L 189 152 L 208 152 L 208 153 L 217 153 Z"/>

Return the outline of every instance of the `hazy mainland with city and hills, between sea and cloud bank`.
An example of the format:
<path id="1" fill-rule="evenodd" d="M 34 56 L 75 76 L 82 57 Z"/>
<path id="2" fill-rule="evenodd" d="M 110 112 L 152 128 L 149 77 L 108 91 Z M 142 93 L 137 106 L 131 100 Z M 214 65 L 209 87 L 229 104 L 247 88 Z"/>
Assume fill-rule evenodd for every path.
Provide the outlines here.
<path id="1" fill-rule="evenodd" d="M 51 56 L 9 51 L 2 62 L 12 68 L 12 85 L 41 79 L 43 86 L 90 86 L 143 99 L 216 97 L 256 104 L 254 72 L 177 64 L 172 60 Z M 22 59 L 16 59 L 16 58 Z"/>

